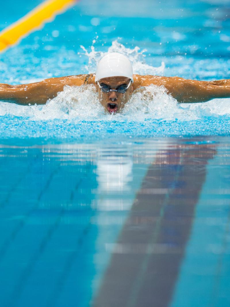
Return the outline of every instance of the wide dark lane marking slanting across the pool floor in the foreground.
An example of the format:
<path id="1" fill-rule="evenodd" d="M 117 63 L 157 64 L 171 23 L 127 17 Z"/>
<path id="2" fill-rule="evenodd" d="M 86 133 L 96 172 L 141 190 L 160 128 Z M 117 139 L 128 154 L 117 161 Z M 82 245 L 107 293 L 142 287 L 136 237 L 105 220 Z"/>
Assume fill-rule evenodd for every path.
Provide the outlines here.
<path id="1" fill-rule="evenodd" d="M 159 155 L 149 167 L 130 216 L 112 245 L 94 307 L 168 306 L 206 165 L 215 153 L 208 146 L 183 145 L 168 150 L 167 157 Z"/>

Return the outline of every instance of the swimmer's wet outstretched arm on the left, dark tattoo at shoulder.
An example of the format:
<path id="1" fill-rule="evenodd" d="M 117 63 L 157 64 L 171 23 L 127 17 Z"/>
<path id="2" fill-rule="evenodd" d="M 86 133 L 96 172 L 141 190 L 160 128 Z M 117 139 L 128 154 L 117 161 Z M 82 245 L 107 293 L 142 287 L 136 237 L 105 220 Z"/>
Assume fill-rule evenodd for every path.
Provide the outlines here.
<path id="1" fill-rule="evenodd" d="M 56 97 L 58 92 L 63 91 L 65 85 L 90 84 L 93 82 L 92 78 L 93 75 L 90 74 L 50 78 L 29 84 L 0 84 L 0 100 L 22 105 L 45 104 L 48 99 Z"/>

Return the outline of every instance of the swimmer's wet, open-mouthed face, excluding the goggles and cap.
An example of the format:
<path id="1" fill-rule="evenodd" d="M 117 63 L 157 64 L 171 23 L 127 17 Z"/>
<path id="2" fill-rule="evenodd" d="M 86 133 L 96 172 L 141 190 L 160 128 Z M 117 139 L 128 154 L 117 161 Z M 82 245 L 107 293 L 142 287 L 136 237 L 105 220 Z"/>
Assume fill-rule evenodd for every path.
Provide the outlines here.
<path id="1" fill-rule="evenodd" d="M 109 86 L 111 89 L 116 90 L 119 86 L 128 86 L 129 81 L 130 79 L 126 77 L 109 77 L 100 79 L 98 82 L 101 86 L 102 84 L 104 84 Z M 97 83 L 96 88 L 98 91 L 100 103 L 109 113 L 119 112 L 125 106 L 125 103 L 127 103 L 129 96 L 133 92 L 132 83 L 124 94 L 113 91 L 104 93 Z"/>

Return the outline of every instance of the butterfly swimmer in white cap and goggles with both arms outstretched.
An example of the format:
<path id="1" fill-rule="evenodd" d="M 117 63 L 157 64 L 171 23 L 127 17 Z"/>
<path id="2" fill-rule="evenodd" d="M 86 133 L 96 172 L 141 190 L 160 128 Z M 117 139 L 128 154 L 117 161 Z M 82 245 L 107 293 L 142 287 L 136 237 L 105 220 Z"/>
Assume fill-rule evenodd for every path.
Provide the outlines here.
<path id="1" fill-rule="evenodd" d="M 230 97 L 230 79 L 196 81 L 180 77 L 133 75 L 130 60 L 120 53 L 112 52 L 100 60 L 96 74 L 50 78 L 22 85 L 0 84 L 0 100 L 21 105 L 45 104 L 63 91 L 65 85 L 83 84 L 94 84 L 100 103 L 109 113 L 119 112 L 133 91 L 151 84 L 163 85 L 178 103 L 199 103 Z"/>

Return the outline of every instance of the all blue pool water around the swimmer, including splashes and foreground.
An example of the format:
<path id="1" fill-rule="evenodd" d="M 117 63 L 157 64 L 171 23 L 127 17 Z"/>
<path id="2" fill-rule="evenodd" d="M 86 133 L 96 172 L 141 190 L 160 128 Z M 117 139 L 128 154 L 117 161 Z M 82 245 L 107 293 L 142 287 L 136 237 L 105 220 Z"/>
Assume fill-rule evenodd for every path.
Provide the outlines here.
<path id="1" fill-rule="evenodd" d="M 41 1 L 8 1 L 0 29 Z M 1 82 L 95 72 L 230 78 L 228 1 L 78 2 L 0 55 Z M 105 114 L 93 86 L 0 103 L 1 306 L 230 304 L 230 98 L 153 85 Z"/>

